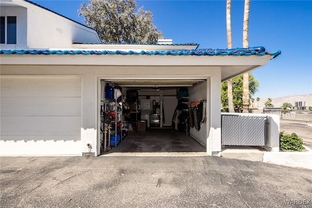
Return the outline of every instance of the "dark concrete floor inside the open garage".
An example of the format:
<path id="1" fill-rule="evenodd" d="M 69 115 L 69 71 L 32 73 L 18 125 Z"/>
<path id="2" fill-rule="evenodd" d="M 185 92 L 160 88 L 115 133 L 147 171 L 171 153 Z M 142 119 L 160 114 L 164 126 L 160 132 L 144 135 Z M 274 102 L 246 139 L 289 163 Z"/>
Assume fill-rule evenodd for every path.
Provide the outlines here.
<path id="1" fill-rule="evenodd" d="M 185 132 L 178 132 L 173 128 L 148 128 L 146 131 L 128 132 L 126 139 L 104 155 L 121 152 L 201 152 L 206 154 L 206 147 L 187 136 Z"/>

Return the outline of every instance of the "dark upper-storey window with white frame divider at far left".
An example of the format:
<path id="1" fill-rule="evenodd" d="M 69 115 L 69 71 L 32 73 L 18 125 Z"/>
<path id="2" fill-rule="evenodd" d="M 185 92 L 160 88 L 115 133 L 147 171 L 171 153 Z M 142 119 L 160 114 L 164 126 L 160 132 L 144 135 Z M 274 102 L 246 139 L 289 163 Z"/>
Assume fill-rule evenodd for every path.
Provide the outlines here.
<path id="1" fill-rule="evenodd" d="M 16 17 L 0 17 L 0 23 L 0 43 L 16 44 Z"/>

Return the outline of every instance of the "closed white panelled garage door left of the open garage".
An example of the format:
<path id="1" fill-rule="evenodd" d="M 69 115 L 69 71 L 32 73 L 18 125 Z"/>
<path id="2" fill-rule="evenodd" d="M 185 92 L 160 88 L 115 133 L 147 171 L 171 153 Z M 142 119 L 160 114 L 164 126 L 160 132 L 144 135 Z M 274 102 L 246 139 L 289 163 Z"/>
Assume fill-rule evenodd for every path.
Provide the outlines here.
<path id="1" fill-rule="evenodd" d="M 0 154 L 81 154 L 81 78 L 0 77 Z"/>

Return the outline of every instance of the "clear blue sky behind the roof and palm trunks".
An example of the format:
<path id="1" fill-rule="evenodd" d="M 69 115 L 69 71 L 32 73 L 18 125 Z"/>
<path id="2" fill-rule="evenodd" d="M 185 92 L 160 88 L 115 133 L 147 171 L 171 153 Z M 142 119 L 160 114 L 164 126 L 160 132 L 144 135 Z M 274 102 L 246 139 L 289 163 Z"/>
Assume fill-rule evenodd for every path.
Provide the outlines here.
<path id="1" fill-rule="evenodd" d="M 34 0 L 65 17 L 78 17 L 88 0 Z M 227 48 L 226 0 L 139 0 L 154 16 L 164 38 L 174 43 L 199 43 L 199 48 Z M 232 0 L 233 48 L 242 47 L 244 1 Z M 312 1 L 251 0 L 249 46 L 264 46 L 282 54 L 254 70 L 260 83 L 254 98 L 312 93 Z"/>

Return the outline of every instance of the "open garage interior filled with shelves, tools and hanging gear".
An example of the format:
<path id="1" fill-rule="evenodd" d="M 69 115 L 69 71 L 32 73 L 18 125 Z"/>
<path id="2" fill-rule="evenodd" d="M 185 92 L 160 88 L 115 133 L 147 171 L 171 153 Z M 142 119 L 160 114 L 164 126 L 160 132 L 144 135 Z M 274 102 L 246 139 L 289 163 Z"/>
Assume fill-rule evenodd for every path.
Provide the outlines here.
<path id="1" fill-rule="evenodd" d="M 206 152 L 207 80 L 100 79 L 100 154 Z"/>

